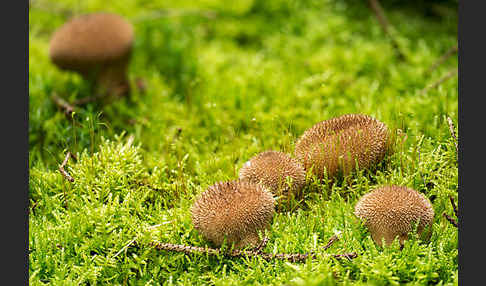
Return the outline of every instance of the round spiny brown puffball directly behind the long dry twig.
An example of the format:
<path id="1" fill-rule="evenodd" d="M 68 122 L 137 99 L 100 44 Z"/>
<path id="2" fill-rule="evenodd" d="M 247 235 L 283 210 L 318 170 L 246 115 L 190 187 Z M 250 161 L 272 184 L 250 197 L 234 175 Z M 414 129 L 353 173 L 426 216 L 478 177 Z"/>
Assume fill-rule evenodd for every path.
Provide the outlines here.
<path id="1" fill-rule="evenodd" d="M 207 240 L 220 247 L 256 246 L 258 232 L 270 227 L 275 200 L 263 186 L 243 181 L 219 182 L 203 192 L 191 207 L 192 222 Z"/>

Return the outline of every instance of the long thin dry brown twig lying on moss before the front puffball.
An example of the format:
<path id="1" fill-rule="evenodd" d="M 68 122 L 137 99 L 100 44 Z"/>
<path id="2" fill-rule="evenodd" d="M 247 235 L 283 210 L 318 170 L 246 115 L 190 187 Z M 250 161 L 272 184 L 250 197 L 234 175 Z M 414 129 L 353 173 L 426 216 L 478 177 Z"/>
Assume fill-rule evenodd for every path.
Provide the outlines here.
<path id="1" fill-rule="evenodd" d="M 196 246 L 188 246 L 188 245 L 180 245 L 180 244 L 172 244 L 172 243 L 160 243 L 160 242 L 151 242 L 151 246 L 153 246 L 157 250 L 166 250 L 166 251 L 174 251 L 174 252 L 183 252 L 185 254 L 195 254 L 195 253 L 202 253 L 202 254 L 210 254 L 210 255 L 225 255 L 229 257 L 246 257 L 252 256 L 257 257 L 260 256 L 261 258 L 270 261 L 272 259 L 280 259 L 280 260 L 288 260 L 290 262 L 304 262 L 307 258 L 317 258 L 317 254 L 315 253 L 306 253 L 306 254 L 285 254 L 285 253 L 277 253 L 277 254 L 270 254 L 264 252 L 258 252 L 254 250 L 245 251 L 245 250 L 233 250 L 231 252 L 224 252 L 220 249 L 214 249 L 209 247 L 196 247 Z M 358 255 L 355 252 L 352 253 L 345 253 L 345 254 L 333 254 L 332 255 L 336 259 L 347 258 L 352 259 L 357 257 Z"/>

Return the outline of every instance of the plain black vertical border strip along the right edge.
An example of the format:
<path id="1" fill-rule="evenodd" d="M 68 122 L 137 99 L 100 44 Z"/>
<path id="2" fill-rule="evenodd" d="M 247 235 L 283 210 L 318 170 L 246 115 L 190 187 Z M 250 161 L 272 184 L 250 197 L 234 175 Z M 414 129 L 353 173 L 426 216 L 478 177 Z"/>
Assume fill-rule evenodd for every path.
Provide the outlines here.
<path id="1" fill-rule="evenodd" d="M 459 284 L 482 285 L 484 282 L 483 228 L 484 106 L 486 65 L 484 41 L 484 1 L 459 1 Z M 481 184 L 483 183 L 483 184 Z M 477 279 L 476 279 L 477 278 Z M 477 282 L 475 283 L 475 280 Z"/>

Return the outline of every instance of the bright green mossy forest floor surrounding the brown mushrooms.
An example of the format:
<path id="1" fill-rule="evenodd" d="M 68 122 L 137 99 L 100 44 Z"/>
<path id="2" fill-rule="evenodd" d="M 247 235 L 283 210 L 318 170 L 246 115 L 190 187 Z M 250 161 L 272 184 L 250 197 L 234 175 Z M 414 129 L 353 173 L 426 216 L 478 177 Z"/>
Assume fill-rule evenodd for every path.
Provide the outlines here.
<path id="1" fill-rule="evenodd" d="M 403 3 L 406 2 L 406 3 Z M 32 1 L 29 11 L 30 285 L 457 285 L 457 5 L 383 1 L 401 60 L 367 1 Z M 136 40 L 132 96 L 91 103 L 69 119 L 51 100 L 90 86 L 50 63 L 49 39 L 71 16 L 115 12 Z M 136 87 L 143 82 L 145 90 Z M 189 208 L 252 156 L 292 153 L 313 124 L 364 113 L 403 135 L 375 170 L 332 186 L 309 178 L 302 201 L 281 202 L 269 253 L 318 251 L 304 263 L 157 251 L 151 241 L 209 246 Z M 457 129 L 455 130 L 457 132 Z M 72 152 L 65 169 L 58 170 Z M 354 216 L 373 188 L 425 194 L 430 241 L 380 248 Z M 130 246 L 133 240 L 136 246 Z M 352 260 L 327 254 L 356 252 Z"/>

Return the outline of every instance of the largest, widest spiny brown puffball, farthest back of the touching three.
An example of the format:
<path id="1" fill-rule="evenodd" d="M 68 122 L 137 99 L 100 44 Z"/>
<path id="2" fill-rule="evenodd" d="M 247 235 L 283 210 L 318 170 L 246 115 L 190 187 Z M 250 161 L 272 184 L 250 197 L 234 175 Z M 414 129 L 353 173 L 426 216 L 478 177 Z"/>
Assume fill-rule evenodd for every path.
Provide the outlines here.
<path id="1" fill-rule="evenodd" d="M 305 170 L 319 178 L 348 175 L 381 161 L 389 146 L 388 127 L 364 114 L 346 114 L 307 129 L 295 145 L 295 155 Z"/>

